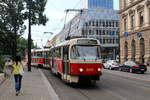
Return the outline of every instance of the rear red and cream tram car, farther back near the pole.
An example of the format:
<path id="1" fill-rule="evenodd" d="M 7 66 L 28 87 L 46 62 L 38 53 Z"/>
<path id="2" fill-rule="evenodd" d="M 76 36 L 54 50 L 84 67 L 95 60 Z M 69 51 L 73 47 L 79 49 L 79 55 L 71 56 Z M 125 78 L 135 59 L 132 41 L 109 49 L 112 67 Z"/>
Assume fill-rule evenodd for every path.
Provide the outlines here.
<path id="1" fill-rule="evenodd" d="M 31 65 L 37 67 L 49 67 L 50 58 L 49 49 L 32 49 L 31 50 Z"/>

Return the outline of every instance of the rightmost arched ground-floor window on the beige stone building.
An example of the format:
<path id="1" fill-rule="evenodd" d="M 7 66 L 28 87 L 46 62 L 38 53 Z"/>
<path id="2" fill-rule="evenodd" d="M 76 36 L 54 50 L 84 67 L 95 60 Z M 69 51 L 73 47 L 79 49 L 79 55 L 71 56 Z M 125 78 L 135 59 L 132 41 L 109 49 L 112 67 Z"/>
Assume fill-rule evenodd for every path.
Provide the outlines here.
<path id="1" fill-rule="evenodd" d="M 145 55 L 145 43 L 144 38 L 140 39 L 140 61 L 141 63 L 144 63 L 144 55 Z"/>

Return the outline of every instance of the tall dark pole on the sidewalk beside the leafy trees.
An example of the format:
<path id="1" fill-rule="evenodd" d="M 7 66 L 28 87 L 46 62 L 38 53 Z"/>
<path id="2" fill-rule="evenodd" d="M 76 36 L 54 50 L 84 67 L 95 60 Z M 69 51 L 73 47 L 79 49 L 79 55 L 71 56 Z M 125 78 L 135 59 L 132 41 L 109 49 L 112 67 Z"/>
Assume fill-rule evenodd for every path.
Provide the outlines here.
<path id="1" fill-rule="evenodd" d="M 29 30 L 28 30 L 28 71 L 31 72 L 31 0 L 28 2 L 29 6 Z"/>

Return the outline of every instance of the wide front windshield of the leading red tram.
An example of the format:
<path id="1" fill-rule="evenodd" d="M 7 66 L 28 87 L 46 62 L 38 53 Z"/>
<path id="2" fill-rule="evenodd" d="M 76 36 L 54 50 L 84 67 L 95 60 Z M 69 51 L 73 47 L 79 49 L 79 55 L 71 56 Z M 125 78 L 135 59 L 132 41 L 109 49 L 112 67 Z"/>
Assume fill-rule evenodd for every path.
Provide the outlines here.
<path id="1" fill-rule="evenodd" d="M 71 48 L 71 59 L 100 59 L 100 48 L 97 45 L 75 45 Z"/>

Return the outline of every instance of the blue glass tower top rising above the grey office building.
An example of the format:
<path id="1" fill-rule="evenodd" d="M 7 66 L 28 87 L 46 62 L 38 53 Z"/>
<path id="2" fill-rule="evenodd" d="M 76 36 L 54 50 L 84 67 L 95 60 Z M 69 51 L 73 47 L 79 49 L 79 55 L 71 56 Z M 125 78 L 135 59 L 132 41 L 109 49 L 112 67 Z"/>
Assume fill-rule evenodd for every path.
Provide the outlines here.
<path id="1" fill-rule="evenodd" d="M 100 8 L 113 10 L 113 0 L 82 0 L 81 8 Z"/>

